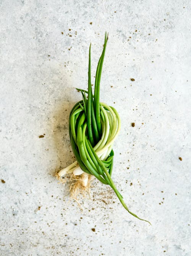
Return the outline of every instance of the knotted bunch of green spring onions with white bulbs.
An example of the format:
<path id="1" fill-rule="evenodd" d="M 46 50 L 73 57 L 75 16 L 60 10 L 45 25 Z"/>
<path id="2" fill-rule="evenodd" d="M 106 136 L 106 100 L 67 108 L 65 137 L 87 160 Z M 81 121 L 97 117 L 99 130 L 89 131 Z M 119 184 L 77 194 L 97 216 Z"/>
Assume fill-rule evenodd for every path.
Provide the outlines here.
<path id="1" fill-rule="evenodd" d="M 108 36 L 105 34 L 104 48 L 95 75 L 94 95 L 91 85 L 91 44 L 89 46 L 88 91 L 76 88 L 81 91 L 83 99 L 73 107 L 69 120 L 70 142 L 76 161 L 60 170 L 57 178 L 72 173 L 81 182 L 81 187 L 86 188 L 92 177 L 96 177 L 115 191 L 121 204 L 131 215 L 143 220 L 129 211 L 112 180 L 112 147 L 121 123 L 115 108 L 100 102 L 100 78 L 107 40 Z"/>

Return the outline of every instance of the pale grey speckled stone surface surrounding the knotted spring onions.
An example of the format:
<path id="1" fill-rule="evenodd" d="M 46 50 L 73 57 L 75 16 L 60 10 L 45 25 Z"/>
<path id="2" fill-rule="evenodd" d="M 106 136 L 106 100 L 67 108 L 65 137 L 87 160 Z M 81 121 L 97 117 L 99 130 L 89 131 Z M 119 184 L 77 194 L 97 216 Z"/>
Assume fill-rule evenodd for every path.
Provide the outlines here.
<path id="1" fill-rule="evenodd" d="M 1 255 L 191 255 L 190 1 L 0 1 L 0 12 Z M 152 226 L 96 180 L 81 211 L 54 177 L 74 160 L 74 88 L 87 88 L 90 42 L 95 75 L 105 31 L 101 101 L 122 122 L 113 180 Z"/>

